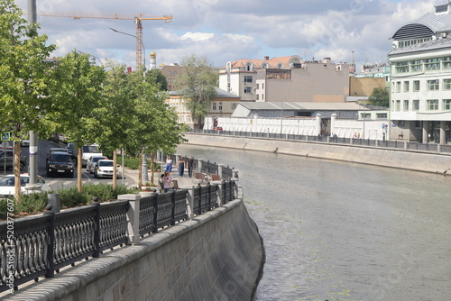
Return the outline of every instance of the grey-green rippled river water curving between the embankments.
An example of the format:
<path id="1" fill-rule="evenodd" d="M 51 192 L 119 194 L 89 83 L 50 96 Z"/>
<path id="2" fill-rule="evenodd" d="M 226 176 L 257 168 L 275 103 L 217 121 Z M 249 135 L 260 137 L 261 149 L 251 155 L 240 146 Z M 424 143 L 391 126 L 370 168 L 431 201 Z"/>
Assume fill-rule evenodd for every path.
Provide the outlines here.
<path id="1" fill-rule="evenodd" d="M 451 300 L 451 177 L 179 146 L 240 171 L 266 250 L 258 300 Z"/>

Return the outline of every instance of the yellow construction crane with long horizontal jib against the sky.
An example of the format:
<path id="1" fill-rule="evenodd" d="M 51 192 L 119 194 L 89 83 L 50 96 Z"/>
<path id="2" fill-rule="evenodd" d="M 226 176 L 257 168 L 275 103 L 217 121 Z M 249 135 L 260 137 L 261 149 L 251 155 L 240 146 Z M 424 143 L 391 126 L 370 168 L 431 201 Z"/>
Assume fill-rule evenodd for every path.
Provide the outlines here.
<path id="1" fill-rule="evenodd" d="M 26 14 L 26 13 L 23 13 Z M 38 15 L 47 17 L 65 18 L 90 18 L 90 19 L 115 19 L 133 20 L 136 24 L 136 68 L 143 66 L 143 23 L 144 20 L 164 20 L 165 23 L 172 21 L 172 15 L 154 17 L 146 14 L 109 14 L 109 13 L 72 13 L 72 12 L 39 12 Z"/>

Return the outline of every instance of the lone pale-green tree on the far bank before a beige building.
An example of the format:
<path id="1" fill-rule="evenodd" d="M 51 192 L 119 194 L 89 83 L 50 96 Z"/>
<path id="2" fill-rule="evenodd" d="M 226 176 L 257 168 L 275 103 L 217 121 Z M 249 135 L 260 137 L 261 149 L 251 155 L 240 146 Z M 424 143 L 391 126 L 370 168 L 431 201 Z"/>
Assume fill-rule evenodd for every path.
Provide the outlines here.
<path id="1" fill-rule="evenodd" d="M 191 112 L 195 128 L 202 128 L 211 101 L 216 97 L 219 75 L 208 64 L 207 59 L 191 55 L 182 60 L 185 74 L 181 78 L 182 95 Z"/>

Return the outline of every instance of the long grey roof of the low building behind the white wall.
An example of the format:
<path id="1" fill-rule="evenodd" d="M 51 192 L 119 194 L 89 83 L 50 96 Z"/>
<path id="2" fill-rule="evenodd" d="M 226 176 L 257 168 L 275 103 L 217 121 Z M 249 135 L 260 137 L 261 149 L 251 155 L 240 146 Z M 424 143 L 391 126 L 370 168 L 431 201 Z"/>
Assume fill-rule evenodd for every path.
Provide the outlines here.
<path id="1" fill-rule="evenodd" d="M 240 102 L 248 110 L 358 111 L 364 105 L 355 103 L 289 103 Z"/>

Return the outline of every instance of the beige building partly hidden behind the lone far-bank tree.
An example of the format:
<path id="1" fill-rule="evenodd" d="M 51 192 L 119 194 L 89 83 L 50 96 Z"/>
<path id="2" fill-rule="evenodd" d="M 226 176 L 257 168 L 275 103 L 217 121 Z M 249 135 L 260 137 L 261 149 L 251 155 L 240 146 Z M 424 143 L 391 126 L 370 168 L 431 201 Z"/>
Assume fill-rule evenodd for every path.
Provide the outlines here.
<path id="1" fill-rule="evenodd" d="M 208 124 L 208 129 L 212 129 L 216 126 L 217 118 L 230 117 L 240 102 L 240 98 L 228 93 L 218 87 L 216 89 L 216 98 L 211 101 L 208 109 L 208 120 L 211 121 Z M 178 123 L 189 125 L 194 127 L 194 122 L 191 117 L 191 112 L 186 107 L 186 100 L 183 99 L 180 91 L 170 91 L 170 96 L 166 99 L 166 103 L 175 109 L 175 112 L 179 115 Z"/>

